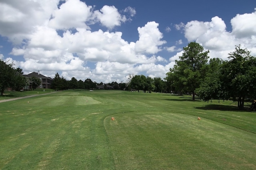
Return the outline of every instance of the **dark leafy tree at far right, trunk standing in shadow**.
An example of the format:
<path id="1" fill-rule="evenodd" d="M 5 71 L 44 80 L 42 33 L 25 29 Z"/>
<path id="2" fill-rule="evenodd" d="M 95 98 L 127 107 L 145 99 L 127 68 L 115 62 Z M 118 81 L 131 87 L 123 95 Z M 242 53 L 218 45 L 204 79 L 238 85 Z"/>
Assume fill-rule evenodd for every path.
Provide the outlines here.
<path id="1" fill-rule="evenodd" d="M 238 108 L 244 109 L 244 99 L 256 97 L 256 57 L 240 45 L 228 55 L 230 61 L 225 61 L 220 68 L 222 90 L 226 92 L 223 98 L 232 97 L 237 100 Z"/>

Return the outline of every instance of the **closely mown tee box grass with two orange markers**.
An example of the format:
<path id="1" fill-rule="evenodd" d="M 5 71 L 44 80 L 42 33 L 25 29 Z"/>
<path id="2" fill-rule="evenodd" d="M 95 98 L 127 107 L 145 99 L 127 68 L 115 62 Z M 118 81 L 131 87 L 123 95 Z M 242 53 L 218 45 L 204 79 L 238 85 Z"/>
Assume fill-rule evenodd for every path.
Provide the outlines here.
<path id="1" fill-rule="evenodd" d="M 255 139 L 228 125 L 185 114 L 126 113 L 114 115 L 114 121 L 110 117 L 105 127 L 116 169 L 256 168 L 248 163 L 255 156 Z"/>

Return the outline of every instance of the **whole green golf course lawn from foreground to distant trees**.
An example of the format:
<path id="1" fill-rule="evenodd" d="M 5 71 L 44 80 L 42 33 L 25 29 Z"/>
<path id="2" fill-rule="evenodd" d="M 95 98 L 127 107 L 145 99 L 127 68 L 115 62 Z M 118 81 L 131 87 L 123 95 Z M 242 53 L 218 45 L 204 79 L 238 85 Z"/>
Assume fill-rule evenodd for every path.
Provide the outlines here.
<path id="1" fill-rule="evenodd" d="M 256 113 L 230 101 L 70 90 L 0 108 L 0 169 L 256 169 Z"/>

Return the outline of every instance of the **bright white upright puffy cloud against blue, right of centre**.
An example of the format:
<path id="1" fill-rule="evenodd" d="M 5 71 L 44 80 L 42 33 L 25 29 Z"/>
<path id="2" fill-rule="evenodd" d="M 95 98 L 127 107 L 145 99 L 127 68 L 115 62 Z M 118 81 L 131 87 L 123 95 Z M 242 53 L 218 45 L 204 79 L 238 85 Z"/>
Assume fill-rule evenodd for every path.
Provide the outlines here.
<path id="1" fill-rule="evenodd" d="M 155 21 L 148 22 L 144 27 L 138 27 L 139 40 L 135 43 L 136 53 L 155 54 L 161 51 L 161 45 L 166 41 L 161 41 L 163 35 L 158 29 L 158 23 Z"/>

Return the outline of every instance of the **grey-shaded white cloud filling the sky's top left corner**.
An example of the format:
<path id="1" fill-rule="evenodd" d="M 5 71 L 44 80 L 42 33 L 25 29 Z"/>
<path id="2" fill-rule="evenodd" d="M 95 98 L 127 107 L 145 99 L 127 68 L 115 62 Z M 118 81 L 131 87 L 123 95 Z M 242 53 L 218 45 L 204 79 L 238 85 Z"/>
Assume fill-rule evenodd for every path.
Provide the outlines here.
<path id="1" fill-rule="evenodd" d="M 59 0 L 11 0 L 0 2 L 0 35 L 14 44 L 29 39 L 36 25 L 46 25 Z"/>

